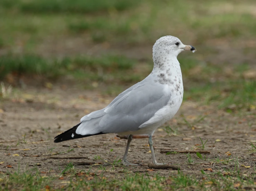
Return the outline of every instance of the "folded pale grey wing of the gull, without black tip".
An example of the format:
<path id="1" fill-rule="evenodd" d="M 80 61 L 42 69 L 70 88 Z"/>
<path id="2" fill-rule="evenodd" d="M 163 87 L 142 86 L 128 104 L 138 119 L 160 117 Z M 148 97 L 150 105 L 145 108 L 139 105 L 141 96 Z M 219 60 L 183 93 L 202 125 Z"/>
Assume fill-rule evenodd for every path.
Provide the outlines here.
<path id="1" fill-rule="evenodd" d="M 139 130 L 162 107 L 171 94 L 162 84 L 137 83 L 116 97 L 106 108 L 81 119 L 77 134 L 119 133 Z"/>

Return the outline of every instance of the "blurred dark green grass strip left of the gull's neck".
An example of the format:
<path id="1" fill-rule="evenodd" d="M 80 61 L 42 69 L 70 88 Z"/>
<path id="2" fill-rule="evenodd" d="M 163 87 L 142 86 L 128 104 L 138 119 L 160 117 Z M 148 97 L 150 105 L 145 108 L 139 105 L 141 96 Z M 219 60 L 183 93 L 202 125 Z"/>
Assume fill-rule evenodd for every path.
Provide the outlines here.
<path id="1" fill-rule="evenodd" d="M 135 60 L 123 56 L 75 57 L 58 60 L 34 55 L 22 57 L 8 55 L 0 58 L 0 77 L 3 79 L 7 74 L 12 73 L 16 76 L 25 74 L 33 78 L 42 76 L 55 79 L 71 74 L 77 79 L 88 82 L 131 83 L 143 78 L 133 73 L 135 64 Z"/>

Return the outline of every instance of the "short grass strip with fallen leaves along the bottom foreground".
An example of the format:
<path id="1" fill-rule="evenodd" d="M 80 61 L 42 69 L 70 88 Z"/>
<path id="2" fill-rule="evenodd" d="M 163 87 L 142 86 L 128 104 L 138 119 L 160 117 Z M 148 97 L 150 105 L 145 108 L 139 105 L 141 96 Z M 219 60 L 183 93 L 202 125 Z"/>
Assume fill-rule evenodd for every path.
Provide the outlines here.
<path id="1" fill-rule="evenodd" d="M 238 163 L 237 163 L 238 164 Z M 186 175 L 183 172 L 173 172 L 166 176 L 158 173 L 133 173 L 119 176 L 118 179 L 110 179 L 99 174 L 86 171 L 77 171 L 71 163 L 57 176 L 49 173 L 41 174 L 37 168 L 24 173 L 14 172 L 0 175 L 3 191 L 9 190 L 184 190 L 193 188 L 196 190 L 240 190 L 242 187 L 254 188 L 252 176 L 243 176 L 235 165 L 234 170 L 226 169 L 202 174 Z M 119 173 L 120 174 L 120 173 Z M 58 180 L 63 177 L 63 180 Z M 88 180 L 88 177 L 93 177 Z M 200 178 L 200 179 L 198 179 Z M 56 184 L 58 182 L 58 184 Z M 61 182 L 65 182 L 64 184 Z M 235 187 L 235 183 L 237 186 Z"/>

